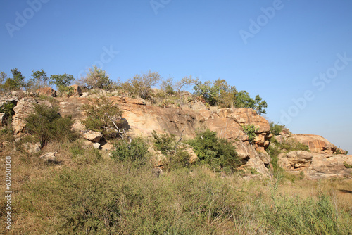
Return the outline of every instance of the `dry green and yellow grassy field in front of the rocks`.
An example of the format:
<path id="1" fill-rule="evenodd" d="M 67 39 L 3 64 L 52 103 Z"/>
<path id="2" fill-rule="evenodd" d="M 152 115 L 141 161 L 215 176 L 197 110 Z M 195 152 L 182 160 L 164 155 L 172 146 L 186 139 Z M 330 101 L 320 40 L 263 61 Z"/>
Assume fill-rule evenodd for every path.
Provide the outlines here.
<path id="1" fill-rule="evenodd" d="M 13 194 L 11 231 L 0 199 L 0 233 L 352 234 L 351 179 L 248 180 L 202 166 L 158 176 L 152 164 L 80 146 L 45 146 L 58 152 L 56 164 L 1 148 L 1 163 L 11 155 Z"/>

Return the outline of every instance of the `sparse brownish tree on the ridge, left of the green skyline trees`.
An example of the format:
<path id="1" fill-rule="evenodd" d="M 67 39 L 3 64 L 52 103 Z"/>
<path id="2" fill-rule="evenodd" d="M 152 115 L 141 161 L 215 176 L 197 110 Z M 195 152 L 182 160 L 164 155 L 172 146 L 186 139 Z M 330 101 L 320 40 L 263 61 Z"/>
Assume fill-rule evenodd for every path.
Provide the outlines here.
<path id="1" fill-rule="evenodd" d="M 160 82 L 161 77 L 158 72 L 151 72 L 142 75 L 134 75 L 130 80 L 133 87 L 133 93 L 139 95 L 142 99 L 148 99 L 151 94 L 151 87 Z"/>

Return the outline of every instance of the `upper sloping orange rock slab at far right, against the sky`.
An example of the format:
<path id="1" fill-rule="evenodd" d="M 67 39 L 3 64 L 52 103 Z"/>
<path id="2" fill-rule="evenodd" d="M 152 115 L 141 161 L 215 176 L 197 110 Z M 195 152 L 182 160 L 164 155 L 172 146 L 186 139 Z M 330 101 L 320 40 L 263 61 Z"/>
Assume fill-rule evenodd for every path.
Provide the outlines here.
<path id="1" fill-rule="evenodd" d="M 346 153 L 346 151 L 337 148 L 334 144 L 331 144 L 327 141 L 327 139 L 315 134 L 290 134 L 288 139 L 294 139 L 302 144 L 308 145 L 309 150 L 313 153 L 333 154 L 338 150 L 341 153 Z"/>

